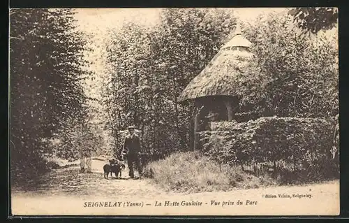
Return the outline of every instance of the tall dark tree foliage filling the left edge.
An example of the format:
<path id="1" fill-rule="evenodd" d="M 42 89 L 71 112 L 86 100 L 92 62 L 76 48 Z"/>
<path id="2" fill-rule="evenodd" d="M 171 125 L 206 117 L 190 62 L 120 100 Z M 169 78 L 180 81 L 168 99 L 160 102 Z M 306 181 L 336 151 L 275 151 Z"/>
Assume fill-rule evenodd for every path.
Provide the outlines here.
<path id="1" fill-rule="evenodd" d="M 47 139 L 82 115 L 84 41 L 73 10 L 13 9 L 10 20 L 11 171 L 30 178 L 45 170 Z"/>

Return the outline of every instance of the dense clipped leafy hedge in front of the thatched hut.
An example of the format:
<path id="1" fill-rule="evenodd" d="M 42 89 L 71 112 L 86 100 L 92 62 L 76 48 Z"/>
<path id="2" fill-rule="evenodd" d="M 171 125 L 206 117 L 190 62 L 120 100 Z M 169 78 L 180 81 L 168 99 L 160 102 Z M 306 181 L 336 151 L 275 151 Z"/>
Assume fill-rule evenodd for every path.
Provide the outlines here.
<path id="1" fill-rule="evenodd" d="M 232 166 L 275 162 L 273 168 L 285 164 L 289 171 L 306 173 L 308 180 L 327 179 L 338 176 L 339 171 L 334 128 L 332 120 L 320 118 L 261 117 L 241 123 L 221 122 L 207 136 L 204 152 Z"/>

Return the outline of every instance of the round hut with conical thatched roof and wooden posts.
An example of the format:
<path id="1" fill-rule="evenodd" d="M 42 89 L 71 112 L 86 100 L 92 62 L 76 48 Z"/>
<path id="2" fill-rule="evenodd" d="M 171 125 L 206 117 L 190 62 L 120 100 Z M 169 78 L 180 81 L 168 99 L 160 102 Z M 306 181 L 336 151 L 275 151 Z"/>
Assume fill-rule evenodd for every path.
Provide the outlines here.
<path id="1" fill-rule="evenodd" d="M 237 79 L 253 57 L 251 42 L 242 35 L 237 24 L 234 36 L 201 73 L 189 82 L 181 92 L 179 102 L 193 101 L 197 108 L 195 115 L 195 137 L 200 131 L 202 120 L 220 121 L 234 119 L 239 105 Z M 207 122 L 204 122 L 204 128 Z"/>

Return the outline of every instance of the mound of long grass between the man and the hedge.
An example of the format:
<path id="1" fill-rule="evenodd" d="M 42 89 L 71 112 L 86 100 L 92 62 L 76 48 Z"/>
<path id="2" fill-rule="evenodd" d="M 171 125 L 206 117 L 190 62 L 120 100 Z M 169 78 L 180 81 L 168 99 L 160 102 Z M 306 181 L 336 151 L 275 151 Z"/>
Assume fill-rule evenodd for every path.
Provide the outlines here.
<path id="1" fill-rule="evenodd" d="M 164 189 L 175 192 L 228 191 L 276 185 L 272 178 L 258 178 L 238 166 L 222 165 L 220 168 L 200 152 L 177 152 L 151 162 L 144 169 L 144 175 Z"/>

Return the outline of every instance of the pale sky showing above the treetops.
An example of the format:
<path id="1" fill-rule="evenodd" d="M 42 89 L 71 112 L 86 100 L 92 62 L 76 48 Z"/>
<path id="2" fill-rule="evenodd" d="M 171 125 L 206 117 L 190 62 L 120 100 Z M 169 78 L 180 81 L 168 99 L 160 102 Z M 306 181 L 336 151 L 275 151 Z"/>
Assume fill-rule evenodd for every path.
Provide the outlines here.
<path id="1" fill-rule="evenodd" d="M 287 8 L 227 8 L 234 10 L 240 22 L 253 22 L 261 13 L 281 12 Z M 95 45 L 92 57 L 103 57 L 98 50 L 108 41 L 107 29 L 119 29 L 124 22 L 135 22 L 154 26 L 160 22 L 161 8 L 77 8 L 75 18 L 79 29 L 91 34 Z M 96 63 L 95 63 L 96 64 Z M 96 64 L 96 69 L 103 69 L 102 64 Z"/>

